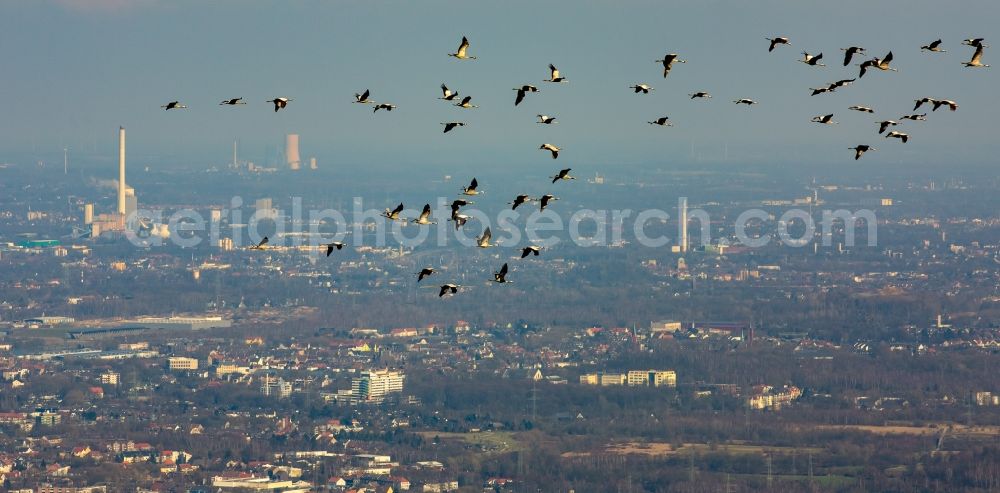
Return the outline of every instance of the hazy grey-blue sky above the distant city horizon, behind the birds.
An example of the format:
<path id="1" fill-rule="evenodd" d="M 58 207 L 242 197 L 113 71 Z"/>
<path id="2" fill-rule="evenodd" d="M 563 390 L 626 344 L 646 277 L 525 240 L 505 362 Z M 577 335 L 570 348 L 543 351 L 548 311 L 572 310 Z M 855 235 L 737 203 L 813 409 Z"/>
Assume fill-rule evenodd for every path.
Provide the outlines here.
<path id="1" fill-rule="evenodd" d="M 695 160 L 853 164 L 847 147 L 878 152 L 862 165 L 992 163 L 1000 151 L 1000 45 L 994 68 L 967 69 L 962 39 L 1000 43 L 995 0 L 770 1 L 169 1 L 0 2 L 0 162 L 9 156 L 114 152 L 157 165 L 225 163 L 232 139 L 244 155 L 277 149 L 299 133 L 304 156 L 323 163 L 544 165 L 543 142 L 563 146 L 560 164 Z M 446 56 L 462 35 L 475 61 Z M 765 36 L 793 46 L 767 52 Z M 944 39 L 947 53 L 919 48 Z M 899 72 L 877 72 L 834 94 L 808 88 L 857 75 L 838 48 L 892 50 Z M 796 60 L 823 52 L 826 68 Z M 653 60 L 676 52 L 664 80 Z M 555 63 L 568 84 L 541 82 Z M 475 110 L 436 98 L 447 83 Z M 652 94 L 627 86 L 646 82 Z M 516 85 L 538 94 L 513 106 Z M 373 115 L 351 104 L 370 88 L 399 105 Z M 709 91 L 711 100 L 688 99 Z M 220 107 L 243 96 L 247 106 Z M 277 114 L 265 101 L 295 99 Z M 909 144 L 875 134 L 922 96 L 956 100 L 951 113 L 908 123 Z M 736 106 L 748 97 L 760 104 Z M 179 99 L 190 109 L 164 112 Z M 851 112 L 863 104 L 875 115 Z M 929 110 L 921 108 L 920 112 Z M 554 115 L 542 126 L 535 115 Z M 810 123 L 834 113 L 839 125 Z M 646 124 L 670 116 L 674 127 Z M 469 125 L 447 135 L 439 122 Z"/>

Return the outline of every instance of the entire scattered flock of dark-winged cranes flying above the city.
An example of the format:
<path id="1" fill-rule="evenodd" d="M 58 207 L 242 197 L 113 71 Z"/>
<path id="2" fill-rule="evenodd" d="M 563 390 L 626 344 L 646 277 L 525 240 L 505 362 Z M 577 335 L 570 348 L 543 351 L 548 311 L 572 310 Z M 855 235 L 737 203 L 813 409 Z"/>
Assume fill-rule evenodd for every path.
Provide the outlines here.
<path id="1" fill-rule="evenodd" d="M 790 46 L 791 45 L 791 42 L 790 42 L 789 38 L 788 37 L 784 37 L 784 36 L 776 36 L 776 37 L 773 37 L 773 38 L 766 38 L 766 39 L 770 42 L 769 47 L 768 47 L 768 52 L 773 52 L 779 46 Z M 983 38 L 970 38 L 970 39 L 966 39 L 966 40 L 962 41 L 962 44 L 966 45 L 966 46 L 970 46 L 970 47 L 975 48 L 975 52 L 973 53 L 971 59 L 968 62 L 963 62 L 962 63 L 965 67 L 971 67 L 971 68 L 985 68 L 985 67 L 989 67 L 989 65 L 982 63 L 983 50 L 984 50 L 984 48 L 988 47 L 988 45 L 984 44 L 984 39 Z M 938 40 L 935 40 L 935 41 L 933 41 L 931 43 L 928 43 L 927 45 L 921 46 L 920 49 L 921 49 L 921 51 L 926 51 L 926 52 L 931 52 L 931 53 L 944 53 L 944 52 L 946 52 L 946 50 L 944 50 L 941 47 L 941 45 L 942 45 L 942 40 L 938 39 Z M 470 43 L 469 43 L 468 38 L 466 38 L 466 37 L 463 36 L 462 37 L 462 42 L 460 43 L 458 49 L 454 53 L 448 53 L 448 56 L 454 57 L 454 58 L 456 58 L 458 60 L 476 60 L 477 57 L 472 56 L 472 55 L 469 54 L 469 47 L 470 47 Z M 851 61 L 854 59 L 854 57 L 856 57 L 856 56 L 865 56 L 867 50 L 865 50 L 862 47 L 851 46 L 851 47 L 848 47 L 848 48 L 841 48 L 841 51 L 844 52 L 843 66 L 846 67 L 846 66 L 849 66 L 851 64 Z M 812 67 L 825 67 L 826 66 L 823 63 L 823 59 L 824 59 L 823 58 L 823 53 L 811 54 L 811 53 L 803 51 L 802 52 L 802 56 L 803 56 L 803 58 L 801 60 L 799 60 L 799 61 L 801 61 L 802 63 L 804 63 L 806 65 L 809 65 L 809 66 L 812 66 Z M 858 67 L 859 67 L 859 73 L 858 73 L 858 76 L 856 78 L 838 80 L 836 82 L 830 83 L 829 85 L 827 85 L 825 87 L 810 88 L 811 95 L 812 96 L 816 96 L 816 95 L 827 93 L 827 92 L 834 92 L 834 91 L 836 91 L 839 88 L 848 86 L 848 85 L 854 83 L 856 80 L 861 79 L 870 70 L 878 70 L 878 71 L 883 71 L 883 72 L 887 72 L 887 71 L 893 71 L 893 72 L 895 72 L 895 71 L 897 71 L 897 69 L 895 67 L 891 66 L 892 61 L 893 61 L 893 54 L 892 54 L 891 51 L 888 52 L 885 56 L 883 56 L 881 58 L 873 57 L 873 58 L 864 60 L 863 62 L 861 62 L 858 65 Z M 662 59 L 655 60 L 654 62 L 655 63 L 659 63 L 659 64 L 662 65 L 662 67 L 663 67 L 663 77 L 664 78 L 666 78 L 670 74 L 670 72 L 673 70 L 675 64 L 677 64 L 677 63 L 682 63 L 682 64 L 683 63 L 687 63 L 686 60 L 680 59 L 679 56 L 676 53 L 668 53 L 668 54 L 664 55 Z M 564 77 L 562 75 L 562 73 L 559 71 L 559 69 L 556 68 L 555 65 L 549 64 L 549 78 L 548 79 L 543 79 L 543 81 L 544 82 L 548 82 L 548 83 L 553 83 L 553 84 L 561 84 L 561 83 L 568 82 L 569 79 L 567 79 L 566 77 Z M 632 86 L 629 86 L 629 88 L 632 89 L 635 94 L 649 94 L 651 91 L 655 90 L 655 88 L 653 88 L 652 86 L 650 86 L 650 85 L 648 85 L 646 83 L 636 83 L 636 84 L 634 84 Z M 515 98 L 514 98 L 514 106 L 520 105 L 521 102 L 524 101 L 525 97 L 527 97 L 528 94 L 534 94 L 534 93 L 538 93 L 539 92 L 538 87 L 536 87 L 534 85 L 531 85 L 531 84 L 523 84 L 521 86 L 513 88 L 513 90 L 516 92 L 516 95 L 515 95 Z M 690 96 L 690 99 L 710 99 L 712 97 L 711 94 L 709 94 L 708 92 L 705 92 L 705 91 L 694 92 L 694 93 L 689 94 L 688 96 Z M 371 105 L 372 108 L 373 108 L 373 110 L 372 110 L 373 113 L 377 113 L 379 110 L 385 110 L 387 112 L 391 112 L 392 110 L 394 110 L 397 107 L 394 104 L 384 103 L 384 102 L 379 103 L 379 102 L 374 101 L 371 98 L 371 92 L 369 90 L 367 90 L 367 89 L 364 92 L 356 93 L 354 95 L 354 99 L 355 99 L 354 103 Z M 475 104 L 472 103 L 472 97 L 471 96 L 466 95 L 466 96 L 460 98 L 458 91 L 454 91 L 454 90 L 448 88 L 448 86 L 445 85 L 445 84 L 441 84 L 441 97 L 439 97 L 438 99 L 450 102 L 454 106 L 462 108 L 462 109 L 475 109 L 475 108 L 478 108 L 478 106 L 476 106 Z M 274 111 L 277 112 L 277 111 L 280 111 L 280 110 L 286 108 L 288 106 L 288 103 L 290 103 L 292 101 L 293 101 L 293 99 L 288 98 L 288 97 L 277 97 L 277 98 L 268 100 L 267 102 L 273 104 L 274 105 Z M 931 105 L 931 111 L 932 112 L 933 111 L 937 111 L 939 108 L 944 107 L 944 106 L 947 106 L 948 109 L 951 110 L 951 111 L 955 111 L 955 110 L 958 109 L 958 103 L 956 103 L 955 101 L 952 101 L 952 100 L 948 100 L 948 99 L 935 99 L 935 98 L 923 97 L 923 98 L 916 99 L 914 101 L 916 103 L 914 105 L 914 107 L 913 107 L 913 111 L 914 112 L 917 111 L 924 104 Z M 735 103 L 737 105 L 746 105 L 748 107 L 753 106 L 755 104 L 758 104 L 757 101 L 755 101 L 753 99 L 750 99 L 750 98 L 735 99 L 735 100 L 733 100 L 733 103 Z M 244 99 L 242 97 L 226 99 L 226 100 L 223 100 L 222 102 L 219 103 L 219 105 L 225 105 L 225 106 L 236 106 L 236 105 L 243 105 L 243 104 L 247 104 L 247 103 L 246 103 L 246 101 L 244 101 Z M 171 101 L 171 102 L 169 102 L 169 103 L 161 106 L 161 108 L 164 108 L 165 110 L 176 110 L 176 109 L 187 108 L 187 106 L 184 105 L 184 104 L 181 104 L 179 101 Z M 870 107 L 867 107 L 867 106 L 861 106 L 861 105 L 850 106 L 848 109 L 850 109 L 852 111 L 858 111 L 858 112 L 864 112 L 864 113 L 874 113 L 875 112 L 874 109 L 872 109 Z M 819 116 L 814 117 L 812 119 L 812 122 L 821 123 L 821 124 L 824 124 L 824 125 L 834 125 L 834 124 L 837 124 L 838 122 L 836 122 L 836 121 L 833 120 L 833 116 L 834 115 L 832 113 L 824 114 L 824 115 L 819 115 Z M 557 123 L 556 122 L 556 118 L 554 116 L 539 114 L 539 115 L 537 115 L 537 117 L 538 117 L 538 122 L 537 123 L 539 123 L 539 124 L 551 125 L 551 124 Z M 910 115 L 904 115 L 904 116 L 900 117 L 899 121 L 895 121 L 895 120 L 881 120 L 881 121 L 878 121 L 877 122 L 878 125 L 879 125 L 878 126 L 878 134 L 879 135 L 885 134 L 885 138 L 895 138 L 895 139 L 899 139 L 903 143 L 906 143 L 909 140 L 909 135 L 908 134 L 906 134 L 904 132 L 897 131 L 897 130 L 890 130 L 888 133 L 886 133 L 886 130 L 888 130 L 890 127 L 895 127 L 895 126 L 899 125 L 903 120 L 924 121 L 924 120 L 926 120 L 926 117 L 927 117 L 927 113 L 920 113 L 920 114 L 913 113 L 913 114 L 910 114 Z M 656 118 L 655 120 L 650 121 L 648 123 L 651 124 L 651 125 L 659 125 L 659 126 L 664 126 L 664 127 L 672 126 L 670 118 L 667 117 L 667 116 Z M 462 121 L 449 121 L 449 122 L 442 122 L 441 125 L 444 126 L 443 133 L 449 133 L 449 132 L 455 130 L 456 128 L 464 127 L 466 125 L 466 123 L 462 122 Z M 860 159 L 861 156 L 864 153 L 868 152 L 868 151 L 874 151 L 874 150 L 876 150 L 870 144 L 858 144 L 855 147 L 851 147 L 849 149 L 855 151 L 855 154 L 854 154 L 854 159 L 855 160 Z M 558 159 L 559 158 L 559 153 L 562 151 L 562 148 L 560 148 L 559 146 L 557 146 L 555 144 L 544 143 L 541 146 L 539 146 L 539 150 L 548 151 L 550 153 L 550 155 L 552 156 L 552 159 Z M 555 184 L 558 181 L 565 181 L 565 180 L 573 180 L 573 179 L 575 179 L 572 175 L 570 175 L 570 171 L 571 170 L 572 170 L 571 168 L 561 169 L 557 174 L 555 174 L 554 176 L 551 177 L 552 184 Z M 462 190 L 461 190 L 461 195 L 463 197 L 473 197 L 473 196 L 476 196 L 476 195 L 479 195 L 479 194 L 482 194 L 482 193 L 485 193 L 485 192 L 479 189 L 479 182 L 478 182 L 478 180 L 476 178 L 473 178 L 472 181 L 469 183 L 469 185 L 466 186 L 466 187 L 462 187 Z M 530 197 L 528 195 L 517 195 L 514 198 L 514 200 L 512 202 L 509 202 L 508 204 L 511 206 L 512 210 L 516 210 L 519 206 L 525 205 L 525 204 L 527 204 L 529 202 L 534 202 L 536 200 L 537 200 L 537 202 L 539 204 L 539 210 L 540 211 L 544 211 L 546 209 L 546 207 L 548 207 L 549 204 L 552 201 L 558 200 L 558 198 L 555 197 L 555 196 L 553 196 L 553 195 L 551 195 L 551 194 L 545 194 L 542 197 L 539 197 L 537 199 L 532 198 L 532 197 Z M 462 226 L 464 226 L 469 221 L 469 219 L 471 219 L 471 217 L 469 215 L 463 214 L 461 212 L 461 210 L 462 210 L 462 207 L 465 207 L 465 206 L 467 206 L 469 204 L 472 204 L 472 203 L 473 202 L 471 202 L 470 200 L 468 200 L 466 198 L 457 198 L 457 199 L 455 199 L 451 203 L 451 216 L 449 217 L 448 221 L 454 222 L 456 230 L 458 230 L 459 228 L 461 228 Z M 403 213 L 404 210 L 405 210 L 404 205 L 402 203 L 400 203 L 394 209 L 391 209 L 391 210 L 390 209 L 386 209 L 382 213 L 382 216 L 384 218 L 388 219 L 389 221 L 398 221 L 398 222 L 402 222 L 402 223 L 407 223 L 408 220 L 402 216 L 402 213 Z M 434 222 L 431 219 L 431 206 L 430 206 L 430 204 L 425 204 L 424 207 L 423 207 L 423 210 L 420 213 L 420 215 L 417 216 L 416 218 L 410 219 L 409 222 L 411 222 L 413 224 L 417 224 L 417 225 L 432 225 L 432 224 L 436 224 L 436 222 Z M 254 246 L 251 246 L 251 249 L 256 249 L 256 250 L 263 249 L 267 243 L 268 243 L 268 238 L 265 236 L 263 239 L 261 239 L 261 241 L 258 244 L 254 245 Z M 498 246 L 498 245 L 499 245 L 499 242 L 494 242 L 493 241 L 492 232 L 490 231 L 489 227 L 486 227 L 485 230 L 483 230 L 481 236 L 479 236 L 478 238 L 476 238 L 476 246 L 478 248 L 486 249 L 486 248 L 491 248 L 491 247 Z M 342 243 L 342 242 L 332 242 L 332 243 L 328 243 L 328 244 L 326 244 L 324 246 L 326 247 L 326 255 L 330 256 L 334 252 L 334 250 L 341 250 L 341 249 L 343 249 L 344 243 Z M 537 257 L 537 256 L 540 255 L 541 250 L 542 250 L 542 248 L 540 246 L 537 246 L 537 245 L 526 246 L 526 247 L 524 247 L 521 250 L 521 257 L 520 258 L 524 259 L 524 258 L 526 258 L 528 256 L 532 256 L 532 255 Z M 424 267 L 423 269 L 420 270 L 420 272 L 416 273 L 417 282 L 419 283 L 419 282 L 423 281 L 425 278 L 427 278 L 427 277 L 429 277 L 431 275 L 434 275 L 436 272 L 437 271 L 435 270 L 434 267 L 430 267 L 430 266 L 429 267 Z M 490 279 L 490 280 L 492 282 L 494 282 L 494 283 L 497 283 L 497 284 L 510 283 L 511 281 L 509 281 L 507 279 L 508 272 L 509 272 L 508 264 L 504 263 L 500 267 L 499 270 L 497 270 L 497 271 L 495 271 L 493 273 L 492 279 Z M 461 287 L 460 285 L 455 284 L 455 283 L 445 283 L 445 284 L 442 284 L 440 286 L 440 288 L 439 288 L 438 296 L 439 297 L 444 297 L 444 296 L 447 296 L 447 295 L 456 294 L 458 292 L 458 290 L 459 290 L 460 287 Z"/>

